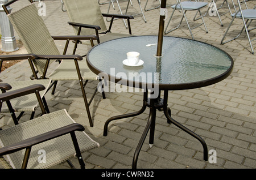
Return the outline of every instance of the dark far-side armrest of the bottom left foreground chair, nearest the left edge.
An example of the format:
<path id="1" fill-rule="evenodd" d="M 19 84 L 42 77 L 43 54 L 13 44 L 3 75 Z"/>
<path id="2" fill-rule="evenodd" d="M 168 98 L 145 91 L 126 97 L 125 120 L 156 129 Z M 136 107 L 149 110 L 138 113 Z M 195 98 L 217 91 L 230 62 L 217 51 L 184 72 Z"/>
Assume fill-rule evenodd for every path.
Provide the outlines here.
<path id="1" fill-rule="evenodd" d="M 7 84 L 7 83 L 5 83 L 5 84 Z M 44 87 L 44 85 L 42 85 L 42 84 L 33 84 L 33 85 L 28 86 L 28 87 L 16 89 L 14 91 L 1 93 L 0 94 L 0 100 L 1 101 L 8 101 L 8 100 L 11 100 L 11 99 L 16 98 L 16 97 L 29 95 L 31 93 L 35 93 L 35 92 L 38 92 L 38 91 L 43 91 L 44 89 L 46 89 L 46 87 Z"/>

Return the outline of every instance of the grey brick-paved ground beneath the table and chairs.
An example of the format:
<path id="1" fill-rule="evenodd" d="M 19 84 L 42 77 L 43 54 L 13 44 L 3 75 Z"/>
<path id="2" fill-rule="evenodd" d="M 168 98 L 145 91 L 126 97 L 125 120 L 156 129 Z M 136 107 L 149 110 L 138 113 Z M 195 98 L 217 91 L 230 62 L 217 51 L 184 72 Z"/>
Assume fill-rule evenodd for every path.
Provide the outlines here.
<path id="1" fill-rule="evenodd" d="M 97 1 L 97 0 L 94 0 Z M 104 2 L 102 0 L 100 2 Z M 74 35 L 73 29 L 67 24 L 69 21 L 67 12 L 61 10 L 59 0 L 44 0 L 46 3 L 46 16 L 43 19 L 51 35 Z M 125 11 L 127 1 L 119 0 L 122 10 Z M 142 0 L 142 8 L 146 0 Z M 175 0 L 168 0 L 167 5 L 175 3 Z M 222 1 L 218 1 L 222 2 Z M 27 0 L 21 0 L 12 5 L 15 8 L 26 4 Z M 36 2 L 38 3 L 38 2 Z M 147 7 L 158 6 L 158 1 L 149 0 Z M 256 1 L 247 2 L 249 7 L 256 5 Z M 101 5 L 102 12 L 108 11 L 108 4 Z M 118 13 L 117 3 L 114 2 L 116 10 L 110 7 L 111 12 Z M 65 9 L 65 8 L 64 8 Z M 171 14 L 171 8 L 168 7 Z M 206 10 L 206 9 L 205 9 Z M 225 12 L 226 6 L 220 12 Z M 133 7 L 129 7 L 129 14 L 139 12 L 137 1 L 133 1 Z M 192 14 L 188 17 L 192 22 Z M 131 20 L 132 32 L 134 35 L 157 35 L 159 22 L 159 8 L 144 12 L 147 23 L 141 15 L 135 16 Z M 181 14 L 177 12 L 176 17 Z M 217 162 L 209 163 L 203 160 L 203 148 L 201 144 L 185 134 L 174 125 L 169 125 L 162 112 L 158 112 L 155 128 L 155 143 L 152 148 L 148 146 L 148 138 L 142 147 L 139 155 L 138 168 L 193 168 L 193 169 L 250 169 L 256 168 L 256 59 L 250 54 L 250 46 L 246 36 L 238 38 L 236 41 L 221 45 L 220 41 L 228 24 L 230 14 L 221 16 L 224 27 L 216 16 L 205 16 L 205 22 L 209 33 L 204 32 L 204 28 L 193 29 L 196 40 L 207 42 L 228 52 L 234 59 L 234 69 L 232 74 L 220 83 L 199 89 L 189 89 L 186 91 L 170 91 L 168 105 L 172 110 L 172 117 L 184 126 L 202 136 L 208 144 L 208 149 L 214 149 L 217 153 Z M 197 24 L 192 22 L 192 24 Z M 106 24 L 109 24 L 106 22 Z M 255 22 L 252 24 L 255 27 Z M 241 21 L 237 21 L 236 28 L 232 31 L 238 32 Z M 128 32 L 121 20 L 116 20 L 113 32 Z M 181 28 L 167 36 L 178 36 L 190 38 L 188 28 L 185 23 Z M 251 37 L 255 33 L 251 32 Z M 16 36 L 19 39 L 18 36 Z M 63 50 L 63 42 L 56 42 L 60 51 Z M 254 50 L 255 42 L 253 42 Z M 82 46 L 78 54 L 86 52 Z M 16 52 L 16 53 L 19 53 Z M 1 73 L 0 79 L 4 82 L 12 80 L 29 79 L 31 75 L 27 61 L 22 61 L 17 65 L 8 68 Z M 88 93 L 97 82 L 88 84 Z M 93 115 L 94 127 L 90 127 L 86 111 L 82 102 L 81 92 L 77 82 L 60 82 L 55 95 L 48 93 L 46 99 L 51 112 L 58 109 L 67 109 L 76 122 L 85 126 L 85 131 L 98 143 L 100 148 L 83 154 L 86 168 L 131 168 L 135 148 L 142 135 L 147 122 L 147 113 L 144 112 L 135 118 L 126 118 L 110 123 L 108 136 L 103 136 L 103 127 L 106 119 L 117 114 L 134 112 L 142 105 L 142 93 L 106 93 L 103 100 L 97 95 L 90 107 Z M 38 114 L 40 111 L 38 110 Z M 29 114 L 25 114 L 22 120 L 27 119 Z M 1 126 L 6 128 L 13 126 L 10 115 L 1 116 Z M 210 155 L 209 155 L 210 156 Z M 77 166 L 77 161 L 72 160 Z M 77 166 L 78 167 L 78 166 Z M 68 168 L 68 164 L 60 164 L 54 168 Z"/>

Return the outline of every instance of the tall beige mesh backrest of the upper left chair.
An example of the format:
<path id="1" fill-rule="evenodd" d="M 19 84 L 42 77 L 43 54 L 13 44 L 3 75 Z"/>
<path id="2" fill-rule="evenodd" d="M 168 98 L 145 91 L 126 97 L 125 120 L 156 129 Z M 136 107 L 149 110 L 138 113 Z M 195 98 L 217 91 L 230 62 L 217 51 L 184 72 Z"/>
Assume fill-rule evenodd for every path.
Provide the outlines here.
<path id="1" fill-rule="evenodd" d="M 21 8 L 18 11 L 11 12 L 11 14 L 8 14 L 7 16 L 28 53 L 46 55 L 60 54 L 42 17 L 38 15 L 38 9 L 34 3 Z M 37 59 L 33 62 L 36 69 L 39 71 L 39 74 L 43 75 L 46 61 Z"/>

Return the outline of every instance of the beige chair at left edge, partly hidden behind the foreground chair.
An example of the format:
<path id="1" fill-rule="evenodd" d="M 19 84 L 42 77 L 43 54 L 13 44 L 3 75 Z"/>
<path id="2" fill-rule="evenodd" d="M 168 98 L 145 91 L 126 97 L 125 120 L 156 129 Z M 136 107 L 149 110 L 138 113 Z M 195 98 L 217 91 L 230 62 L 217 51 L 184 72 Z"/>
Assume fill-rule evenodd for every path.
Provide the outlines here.
<path id="1" fill-rule="evenodd" d="M 35 58 L 37 57 L 34 54 L 0 55 L 0 69 L 2 67 L 3 61 L 14 61 L 14 60 L 35 59 Z M 6 76 L 8 76 L 10 73 L 11 72 L 8 72 Z M 51 84 L 50 79 L 26 80 L 26 81 L 17 81 L 17 82 L 9 82 L 9 81 L 1 82 L 0 89 L 2 93 L 6 93 L 9 91 L 14 91 L 15 89 L 27 87 L 33 84 L 42 84 L 44 85 L 44 87 L 46 87 L 46 89 L 44 89 L 41 92 L 41 98 L 46 108 L 46 112 L 49 113 L 49 109 L 47 106 L 46 99 L 44 98 L 44 95 L 46 95 L 47 89 Z M 35 115 L 35 111 L 38 108 L 38 105 L 39 105 L 38 99 L 34 95 L 22 96 L 22 97 L 13 99 L 10 102 L 7 101 L 7 103 L 3 103 L 1 113 L 11 113 L 11 117 L 13 118 L 14 124 L 18 125 L 20 118 L 25 112 L 31 113 L 30 119 L 33 119 Z M 13 108 L 10 108 L 10 107 L 13 107 Z"/>

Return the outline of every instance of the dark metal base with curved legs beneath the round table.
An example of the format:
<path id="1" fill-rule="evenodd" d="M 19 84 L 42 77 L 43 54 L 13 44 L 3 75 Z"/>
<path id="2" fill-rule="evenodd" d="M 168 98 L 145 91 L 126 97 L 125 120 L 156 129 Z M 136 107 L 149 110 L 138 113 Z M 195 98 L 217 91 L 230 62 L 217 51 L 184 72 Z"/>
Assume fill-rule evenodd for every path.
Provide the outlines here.
<path id="1" fill-rule="evenodd" d="M 208 161 L 208 149 L 207 149 L 207 144 L 201 138 L 199 135 L 195 134 L 195 132 L 189 130 L 187 127 L 181 125 L 179 122 L 175 121 L 173 118 L 171 118 L 171 109 L 168 108 L 167 106 L 168 102 L 168 90 L 164 91 L 164 98 L 160 98 L 160 95 L 158 98 L 148 98 L 147 97 L 147 92 L 144 92 L 143 94 L 143 106 L 141 110 L 138 112 L 134 113 L 128 113 L 128 114 L 123 114 L 123 115 L 116 115 L 114 117 L 109 118 L 104 125 L 104 133 L 103 135 L 106 136 L 108 133 L 108 125 L 111 121 L 117 120 L 117 119 L 122 119 L 122 118 L 128 118 L 128 117 L 134 117 L 139 114 L 142 114 L 144 110 L 146 110 L 147 107 L 150 108 L 150 113 L 148 116 L 148 121 L 147 125 L 143 131 L 143 134 L 141 136 L 141 139 L 139 140 L 139 143 L 137 145 L 137 148 L 134 153 L 133 157 L 133 165 L 132 168 L 135 169 L 137 168 L 137 161 L 138 161 L 138 156 L 139 152 L 141 151 L 142 145 L 144 143 L 144 140 L 146 139 L 147 133 L 150 130 L 150 138 L 149 138 L 149 144 L 152 145 L 154 144 L 154 133 L 155 133 L 155 119 L 156 119 L 156 110 L 163 111 L 164 115 L 167 118 L 168 123 L 173 123 L 175 126 L 181 128 L 181 130 L 187 132 L 189 135 L 193 136 L 199 142 L 203 145 L 203 150 L 204 150 L 204 160 Z"/>

